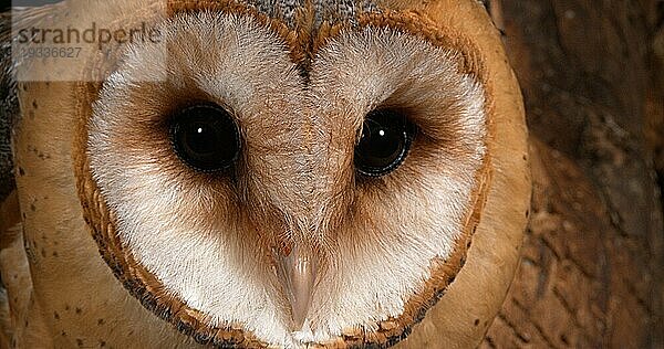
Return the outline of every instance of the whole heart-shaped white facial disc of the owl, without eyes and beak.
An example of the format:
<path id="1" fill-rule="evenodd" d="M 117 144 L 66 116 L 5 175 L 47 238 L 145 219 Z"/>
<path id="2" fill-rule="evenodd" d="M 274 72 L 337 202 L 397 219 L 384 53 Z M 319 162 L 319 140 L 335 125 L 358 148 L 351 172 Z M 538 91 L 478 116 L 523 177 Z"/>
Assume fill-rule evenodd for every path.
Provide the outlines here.
<path id="1" fill-rule="evenodd" d="M 132 46 L 91 119 L 93 178 L 123 244 L 212 326 L 239 322 L 269 343 L 398 317 L 432 260 L 452 253 L 485 155 L 484 92 L 454 53 L 367 28 L 332 40 L 307 84 L 277 36 L 247 18 L 183 15 L 164 30 L 168 66 L 148 64 L 165 62 L 158 50 Z M 164 71 L 164 83 L 137 83 Z M 172 152 L 167 116 L 201 98 L 240 126 L 234 182 Z M 355 178 L 356 134 L 381 106 L 408 110 L 422 135 L 388 178 Z M 321 260 L 301 331 L 272 272 L 280 242 Z"/>

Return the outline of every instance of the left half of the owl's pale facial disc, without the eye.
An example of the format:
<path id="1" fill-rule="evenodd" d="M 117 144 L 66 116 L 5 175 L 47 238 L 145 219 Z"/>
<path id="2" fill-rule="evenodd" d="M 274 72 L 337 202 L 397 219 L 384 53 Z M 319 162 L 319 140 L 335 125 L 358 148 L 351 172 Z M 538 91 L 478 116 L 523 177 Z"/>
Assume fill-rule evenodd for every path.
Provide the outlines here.
<path id="1" fill-rule="evenodd" d="M 167 82 L 127 84 L 164 68 L 151 64 L 159 50 L 134 47 L 102 91 L 90 130 L 94 178 L 120 218 L 121 239 L 167 292 L 205 311 L 215 326 L 239 322 L 263 340 L 292 345 L 269 250 L 256 248 L 286 228 L 263 223 L 268 231 L 257 231 L 259 218 L 251 215 L 262 214 L 253 208 L 298 207 L 297 194 L 281 192 L 298 190 L 303 172 L 290 152 L 303 139 L 297 134 L 303 127 L 295 125 L 301 107 L 298 98 L 287 103 L 300 88 L 297 68 L 276 36 L 251 20 L 204 13 L 175 19 L 164 30 L 170 46 Z M 176 159 L 167 133 L 152 127 L 178 104 L 201 98 L 238 118 L 242 162 L 255 169 L 239 178 L 242 192 L 196 176 Z M 276 171 L 288 172 L 290 181 L 278 184 Z"/>

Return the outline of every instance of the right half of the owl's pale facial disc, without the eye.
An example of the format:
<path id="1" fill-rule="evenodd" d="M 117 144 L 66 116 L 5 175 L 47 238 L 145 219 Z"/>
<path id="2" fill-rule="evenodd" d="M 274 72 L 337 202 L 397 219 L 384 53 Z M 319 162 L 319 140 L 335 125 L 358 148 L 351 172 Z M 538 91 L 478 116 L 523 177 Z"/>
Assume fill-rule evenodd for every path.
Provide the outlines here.
<path id="1" fill-rule="evenodd" d="M 314 60 L 310 91 L 323 116 L 318 141 L 330 145 L 320 155 L 328 169 L 320 190 L 326 208 L 343 208 L 338 192 L 353 193 L 350 213 L 330 224 L 333 263 L 311 314 L 317 340 L 397 317 L 429 277 L 430 261 L 455 248 L 485 156 L 486 119 L 483 89 L 458 73 L 452 55 L 392 30 L 365 29 L 342 34 Z M 419 127 L 406 162 L 382 179 L 349 181 L 364 116 L 390 107 L 407 110 Z M 351 174 L 344 181 L 338 171 Z"/>

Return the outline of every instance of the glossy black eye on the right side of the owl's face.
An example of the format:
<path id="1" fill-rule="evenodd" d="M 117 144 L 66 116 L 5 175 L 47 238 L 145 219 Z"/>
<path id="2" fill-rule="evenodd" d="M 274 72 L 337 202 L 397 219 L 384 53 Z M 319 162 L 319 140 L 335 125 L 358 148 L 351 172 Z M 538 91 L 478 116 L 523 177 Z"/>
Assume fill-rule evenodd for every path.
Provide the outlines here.
<path id="1" fill-rule="evenodd" d="M 374 110 L 364 120 L 355 147 L 355 167 L 367 176 L 383 176 L 405 159 L 411 144 L 411 127 L 403 115 Z"/>

